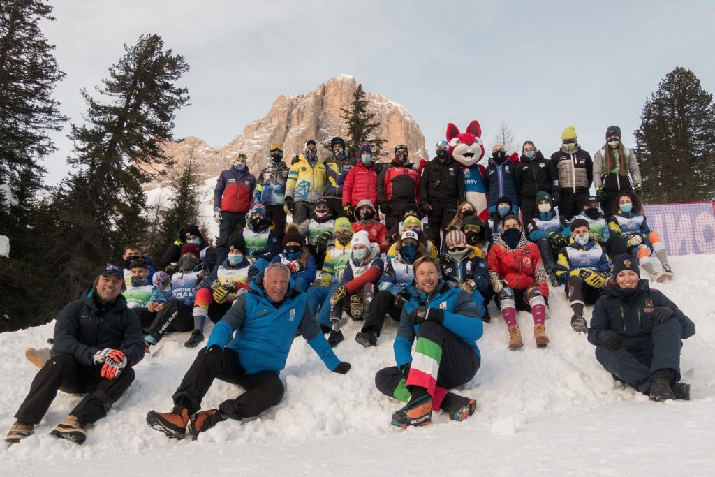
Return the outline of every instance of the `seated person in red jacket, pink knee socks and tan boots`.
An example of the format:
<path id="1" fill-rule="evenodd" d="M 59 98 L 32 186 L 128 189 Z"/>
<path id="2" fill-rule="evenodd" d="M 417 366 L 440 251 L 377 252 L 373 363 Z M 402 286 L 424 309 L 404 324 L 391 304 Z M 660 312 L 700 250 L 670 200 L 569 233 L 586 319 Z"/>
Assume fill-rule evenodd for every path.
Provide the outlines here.
<path id="1" fill-rule="evenodd" d="M 548 283 L 538 247 L 526 240 L 516 215 L 503 220 L 501 240 L 495 242 L 487 256 L 487 267 L 501 315 L 509 328 L 509 348 L 521 348 L 521 331 L 516 324 L 516 310 L 531 311 L 537 348 L 546 348 L 544 328 Z"/>

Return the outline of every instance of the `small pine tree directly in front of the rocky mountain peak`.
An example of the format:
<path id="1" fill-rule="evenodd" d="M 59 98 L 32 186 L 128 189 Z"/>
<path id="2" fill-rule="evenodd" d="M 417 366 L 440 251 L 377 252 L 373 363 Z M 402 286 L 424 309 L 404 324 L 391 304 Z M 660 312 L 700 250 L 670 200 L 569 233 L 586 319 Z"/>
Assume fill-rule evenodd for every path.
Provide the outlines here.
<path id="1" fill-rule="evenodd" d="M 345 119 L 345 124 L 347 124 L 345 149 L 350 154 L 350 157 L 360 157 L 360 146 L 365 141 L 370 143 L 375 159 L 385 154 L 383 151 L 385 139 L 378 136 L 380 129 L 382 129 L 380 122 L 372 122 L 377 114 L 368 112 L 368 104 L 370 102 L 365 91 L 363 91 L 363 85 L 358 84 L 358 89 L 355 89 L 355 93 L 352 94 L 350 109 L 342 108 L 341 117 Z M 330 144 L 327 147 L 330 149 Z M 330 152 L 332 153 L 332 150 Z"/>

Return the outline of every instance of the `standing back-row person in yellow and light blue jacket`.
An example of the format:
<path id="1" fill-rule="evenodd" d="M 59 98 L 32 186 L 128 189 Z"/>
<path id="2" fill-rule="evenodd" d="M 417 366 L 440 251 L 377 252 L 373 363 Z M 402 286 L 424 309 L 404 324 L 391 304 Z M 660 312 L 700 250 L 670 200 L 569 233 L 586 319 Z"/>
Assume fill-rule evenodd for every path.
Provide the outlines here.
<path id="1" fill-rule="evenodd" d="M 308 139 L 305 150 L 290 166 L 285 183 L 285 206 L 293 215 L 293 223 L 308 220 L 315 201 L 322 197 L 327 180 L 325 162 L 317 157 L 317 142 Z"/>

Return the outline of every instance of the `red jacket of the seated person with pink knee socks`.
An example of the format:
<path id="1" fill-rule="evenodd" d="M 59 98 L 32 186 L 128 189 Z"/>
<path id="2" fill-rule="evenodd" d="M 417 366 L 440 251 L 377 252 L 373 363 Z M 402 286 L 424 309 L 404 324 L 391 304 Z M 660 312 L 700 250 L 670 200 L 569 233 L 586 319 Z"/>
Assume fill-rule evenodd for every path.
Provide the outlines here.
<path id="1" fill-rule="evenodd" d="M 523 290 L 536 285 L 541 290 L 541 295 L 548 298 L 546 270 L 543 268 L 541 255 L 536 244 L 526 240 L 525 235 L 521 234 L 516 250 L 503 241 L 495 243 L 487 255 L 487 267 L 490 277 L 506 280 L 513 290 Z"/>

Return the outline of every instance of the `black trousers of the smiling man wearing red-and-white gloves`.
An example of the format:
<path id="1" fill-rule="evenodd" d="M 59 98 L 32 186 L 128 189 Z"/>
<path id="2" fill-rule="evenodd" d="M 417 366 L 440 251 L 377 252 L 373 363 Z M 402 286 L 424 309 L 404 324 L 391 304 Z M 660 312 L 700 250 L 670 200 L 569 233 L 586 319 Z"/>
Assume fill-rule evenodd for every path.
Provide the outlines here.
<path id="1" fill-rule="evenodd" d="M 37 372 L 27 397 L 15 418 L 25 424 L 39 424 L 47 413 L 57 390 L 69 394 L 88 393 L 69 413 L 86 423 L 107 415 L 112 404 L 122 397 L 134 381 L 134 370 L 127 366 L 117 378 L 102 378 L 102 365 L 85 366 L 67 353 L 54 353 Z"/>

